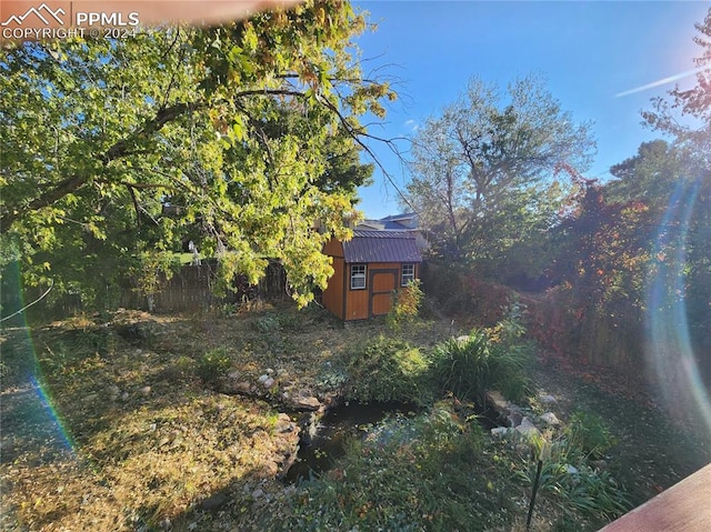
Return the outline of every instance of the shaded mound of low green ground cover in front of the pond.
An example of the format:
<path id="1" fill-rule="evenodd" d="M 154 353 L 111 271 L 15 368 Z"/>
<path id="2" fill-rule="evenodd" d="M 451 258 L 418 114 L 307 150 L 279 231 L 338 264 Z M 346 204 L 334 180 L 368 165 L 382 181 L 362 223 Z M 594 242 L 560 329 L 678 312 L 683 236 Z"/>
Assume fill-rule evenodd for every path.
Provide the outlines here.
<path id="1" fill-rule="evenodd" d="M 266 530 L 483 531 L 514 513 L 505 471 L 489 460 L 480 425 L 440 402 L 353 442 L 340 466 L 307 482 L 286 522 Z M 316 511 L 318 509 L 318 511 Z"/>

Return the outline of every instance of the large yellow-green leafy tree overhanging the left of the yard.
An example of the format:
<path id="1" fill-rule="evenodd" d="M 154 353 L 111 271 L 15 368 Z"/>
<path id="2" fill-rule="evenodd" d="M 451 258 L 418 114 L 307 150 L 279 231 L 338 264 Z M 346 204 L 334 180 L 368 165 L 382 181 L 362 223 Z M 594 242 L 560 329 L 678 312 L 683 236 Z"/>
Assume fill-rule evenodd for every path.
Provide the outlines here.
<path id="1" fill-rule="evenodd" d="M 312 0 L 217 28 L 2 49 L 4 259 L 27 283 L 99 294 L 137 271 L 150 292 L 190 237 L 226 283 L 280 259 L 306 303 L 369 177 L 359 116 L 394 97 L 359 68 L 365 28 L 348 2 Z"/>

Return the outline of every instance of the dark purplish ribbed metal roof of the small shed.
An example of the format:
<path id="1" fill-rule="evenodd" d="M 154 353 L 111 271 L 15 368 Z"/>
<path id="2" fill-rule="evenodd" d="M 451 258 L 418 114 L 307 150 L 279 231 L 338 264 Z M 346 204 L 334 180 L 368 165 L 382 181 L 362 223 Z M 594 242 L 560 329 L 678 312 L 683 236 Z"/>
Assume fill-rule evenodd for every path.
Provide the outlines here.
<path id="1" fill-rule="evenodd" d="M 422 262 L 414 235 L 398 231 L 353 231 L 343 242 L 346 262 Z"/>

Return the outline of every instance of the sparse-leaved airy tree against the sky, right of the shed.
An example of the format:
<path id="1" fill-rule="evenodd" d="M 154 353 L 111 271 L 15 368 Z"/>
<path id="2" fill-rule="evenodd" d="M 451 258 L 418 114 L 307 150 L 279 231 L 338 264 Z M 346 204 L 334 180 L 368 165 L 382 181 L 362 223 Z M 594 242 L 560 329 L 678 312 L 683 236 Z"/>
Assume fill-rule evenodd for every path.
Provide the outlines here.
<path id="1" fill-rule="evenodd" d="M 552 223 L 564 195 L 549 179 L 554 169 L 584 168 L 593 145 L 589 126 L 574 124 L 540 79 L 515 80 L 503 94 L 474 78 L 418 132 L 407 201 L 440 257 L 467 265 L 499 257 L 500 265 Z"/>

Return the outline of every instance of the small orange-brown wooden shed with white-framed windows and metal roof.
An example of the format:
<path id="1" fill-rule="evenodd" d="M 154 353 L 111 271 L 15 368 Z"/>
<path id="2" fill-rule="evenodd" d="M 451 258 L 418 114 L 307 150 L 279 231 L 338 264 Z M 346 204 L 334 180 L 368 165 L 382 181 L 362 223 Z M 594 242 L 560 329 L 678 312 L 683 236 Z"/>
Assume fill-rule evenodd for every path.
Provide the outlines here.
<path id="1" fill-rule="evenodd" d="M 387 314 L 394 291 L 420 277 L 422 257 L 409 232 L 356 230 L 348 242 L 330 240 L 324 252 L 334 272 L 323 305 L 343 321 Z"/>

